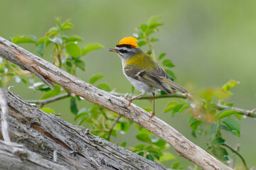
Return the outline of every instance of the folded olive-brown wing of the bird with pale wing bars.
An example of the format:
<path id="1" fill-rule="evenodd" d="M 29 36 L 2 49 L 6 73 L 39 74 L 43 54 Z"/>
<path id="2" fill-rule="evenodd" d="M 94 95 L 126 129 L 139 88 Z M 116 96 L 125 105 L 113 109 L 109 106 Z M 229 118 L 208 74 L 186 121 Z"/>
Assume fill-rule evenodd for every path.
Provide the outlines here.
<path id="1" fill-rule="evenodd" d="M 142 81 L 145 84 L 161 89 L 162 91 L 172 94 L 165 86 L 162 84 L 162 76 L 157 74 L 155 69 L 139 69 L 133 64 L 128 64 L 124 68 L 124 72 L 128 77 Z M 165 71 L 163 71 L 165 72 Z M 166 74 L 166 73 L 165 73 Z M 168 75 L 166 75 L 168 77 Z M 169 79 L 169 77 L 168 77 Z"/>

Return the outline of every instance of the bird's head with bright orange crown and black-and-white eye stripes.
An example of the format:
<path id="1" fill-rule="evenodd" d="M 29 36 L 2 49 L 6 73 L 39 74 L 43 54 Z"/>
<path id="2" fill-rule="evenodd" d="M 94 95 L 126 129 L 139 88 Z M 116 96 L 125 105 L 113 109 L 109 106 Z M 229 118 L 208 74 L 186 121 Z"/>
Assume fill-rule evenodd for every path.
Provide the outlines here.
<path id="1" fill-rule="evenodd" d="M 128 60 L 130 57 L 133 57 L 133 55 L 141 52 L 137 41 L 138 40 L 133 37 L 123 38 L 118 42 L 115 48 L 108 48 L 108 51 L 116 52 L 121 59 Z"/>

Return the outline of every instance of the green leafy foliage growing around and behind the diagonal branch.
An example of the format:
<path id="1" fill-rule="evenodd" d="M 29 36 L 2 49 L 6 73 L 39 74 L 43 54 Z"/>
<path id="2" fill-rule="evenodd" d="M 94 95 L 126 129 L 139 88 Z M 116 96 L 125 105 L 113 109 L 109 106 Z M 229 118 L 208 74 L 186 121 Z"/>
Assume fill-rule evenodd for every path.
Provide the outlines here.
<path id="1" fill-rule="evenodd" d="M 34 35 L 18 35 L 10 40 L 16 44 L 34 44 L 37 54 L 41 57 L 43 57 L 45 48 L 51 45 L 52 58 L 57 67 L 65 69 L 65 71 L 73 75 L 76 75 L 77 68 L 84 72 L 85 63 L 82 57 L 87 55 L 88 52 L 101 49 L 104 46 L 96 42 L 81 47 L 79 43 L 83 42 L 82 38 L 77 35 L 67 35 L 67 30 L 72 29 L 74 27 L 73 24 L 69 20 L 62 22 L 60 18 L 56 18 L 56 22 L 56 26 L 50 28 L 42 38 L 36 38 Z M 152 35 L 157 33 L 159 27 L 163 25 L 164 23 L 162 22 L 161 16 L 152 16 L 148 19 L 147 23 L 143 23 L 136 28 L 136 33 L 133 35 L 139 40 L 138 45 L 140 47 L 143 45 L 148 46 L 148 55 L 157 62 L 160 62 L 167 74 L 169 74 L 169 77 L 176 79 L 172 71 L 174 64 L 171 60 L 166 58 L 167 54 L 162 52 L 157 55 L 157 52 L 155 52 L 152 47 L 153 42 L 159 41 L 157 38 L 152 37 Z M 2 58 L 0 58 L 0 74 L 1 86 L 6 86 L 11 79 L 15 79 L 17 83 L 22 81 L 25 84 L 28 84 L 29 81 L 29 83 L 32 84 L 28 86 L 29 89 L 43 92 L 40 99 L 56 97 L 63 94 L 65 91 L 70 101 L 70 112 L 75 115 L 74 120 L 77 120 L 78 125 L 90 125 L 90 132 L 92 134 L 99 135 L 106 140 L 111 140 L 111 136 L 116 137 L 118 132 L 121 133 L 121 135 L 125 135 L 133 125 L 132 121 L 118 116 L 116 113 L 108 111 L 101 106 L 93 105 L 90 108 L 78 108 L 77 102 L 82 101 L 83 98 L 70 94 L 69 91 L 62 89 L 60 86 L 56 86 L 55 89 L 51 91 L 48 86 L 45 86 L 42 82 L 34 82 L 33 74 L 18 68 L 15 64 L 11 64 Z M 104 91 L 112 91 L 113 89 L 111 89 L 108 83 L 98 83 L 99 80 L 103 78 L 103 74 L 95 74 L 89 79 L 89 84 L 97 86 Z M 224 106 L 233 106 L 233 103 L 228 103 L 227 99 L 232 94 L 230 89 L 236 85 L 238 85 L 237 81 L 230 80 L 221 88 L 206 88 L 201 91 L 198 97 L 193 95 L 189 96 L 187 99 L 170 101 L 163 111 L 164 113 L 172 113 L 172 116 L 182 112 L 187 113 L 187 122 L 191 128 L 191 135 L 193 137 L 205 135 L 207 151 L 227 164 L 231 159 L 235 160 L 235 157 L 238 156 L 238 152 L 231 154 L 231 152 L 234 152 L 234 149 L 228 146 L 223 131 L 225 130 L 236 137 L 240 137 L 240 120 L 243 117 L 237 111 L 218 109 L 216 103 Z M 165 93 L 161 92 L 161 94 Z M 43 107 L 42 104 L 39 105 L 39 107 L 45 113 L 55 113 L 54 108 Z M 151 109 L 145 108 L 145 111 L 151 111 Z M 184 169 L 179 161 L 177 162 L 177 158 L 174 157 L 172 153 L 167 152 L 169 145 L 167 145 L 164 140 L 152 135 L 151 132 L 148 132 L 148 130 L 136 124 L 134 126 L 138 131 L 135 138 L 140 141 L 140 144 L 127 147 L 126 141 L 124 141 L 121 143 L 121 147 L 127 147 L 131 151 L 152 161 L 166 162 L 176 160 L 170 168 Z M 247 169 L 245 162 L 243 163 L 245 169 Z"/>

